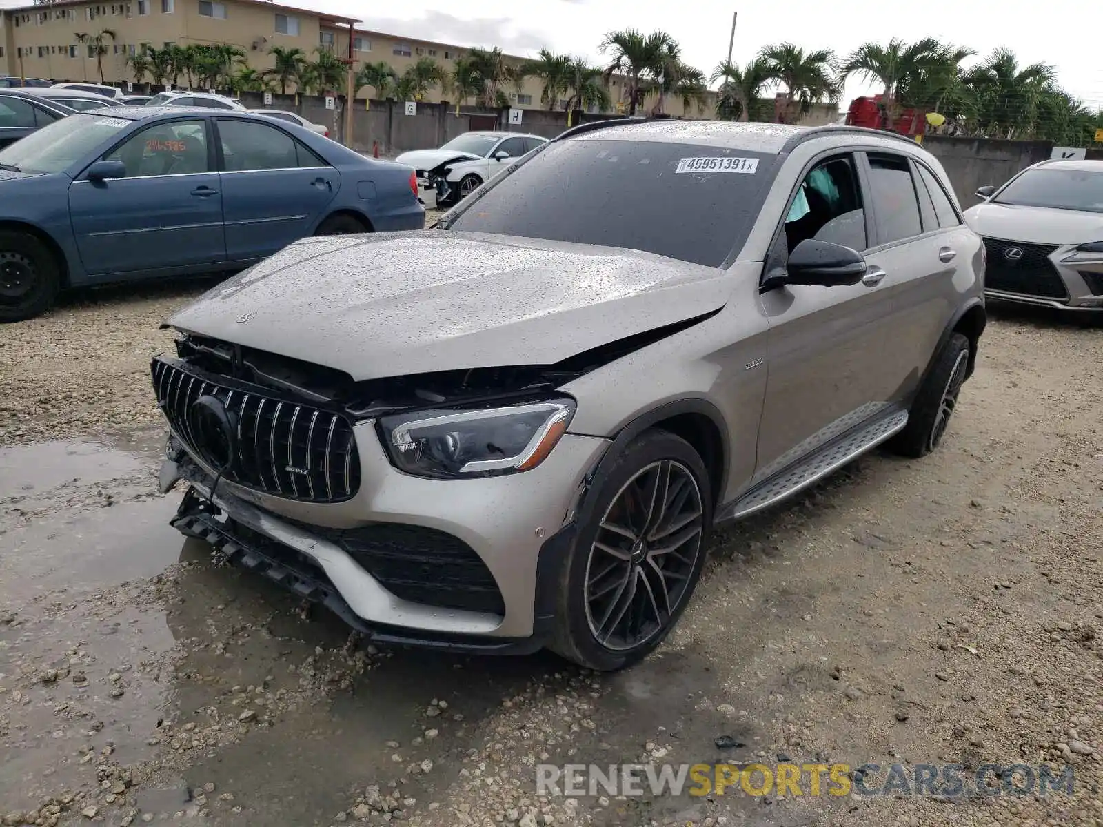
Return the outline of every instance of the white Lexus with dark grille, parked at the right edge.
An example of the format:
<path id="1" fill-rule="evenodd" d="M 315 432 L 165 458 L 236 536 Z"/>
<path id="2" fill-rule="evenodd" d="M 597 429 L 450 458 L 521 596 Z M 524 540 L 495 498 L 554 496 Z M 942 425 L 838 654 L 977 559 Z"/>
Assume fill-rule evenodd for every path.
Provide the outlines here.
<path id="1" fill-rule="evenodd" d="M 1103 312 L 1103 161 L 1042 161 L 976 196 L 989 299 Z"/>

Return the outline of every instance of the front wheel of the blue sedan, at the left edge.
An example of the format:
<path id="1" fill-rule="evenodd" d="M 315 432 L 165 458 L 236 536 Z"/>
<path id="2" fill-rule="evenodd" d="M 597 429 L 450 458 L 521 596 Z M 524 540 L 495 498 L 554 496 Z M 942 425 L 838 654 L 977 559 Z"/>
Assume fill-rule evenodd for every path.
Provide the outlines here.
<path id="1" fill-rule="evenodd" d="M 57 259 L 30 233 L 0 232 L 0 323 L 46 312 L 61 290 Z"/>

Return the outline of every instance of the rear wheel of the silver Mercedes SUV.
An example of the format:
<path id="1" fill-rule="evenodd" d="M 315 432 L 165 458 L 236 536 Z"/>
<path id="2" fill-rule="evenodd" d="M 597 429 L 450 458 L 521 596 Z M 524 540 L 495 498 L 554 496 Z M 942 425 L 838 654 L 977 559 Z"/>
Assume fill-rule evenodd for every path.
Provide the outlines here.
<path id="1" fill-rule="evenodd" d="M 919 458 L 939 447 L 957 407 L 968 358 L 968 340 L 961 333 L 952 334 L 911 404 L 908 425 L 889 442 L 891 450 L 904 457 Z"/>

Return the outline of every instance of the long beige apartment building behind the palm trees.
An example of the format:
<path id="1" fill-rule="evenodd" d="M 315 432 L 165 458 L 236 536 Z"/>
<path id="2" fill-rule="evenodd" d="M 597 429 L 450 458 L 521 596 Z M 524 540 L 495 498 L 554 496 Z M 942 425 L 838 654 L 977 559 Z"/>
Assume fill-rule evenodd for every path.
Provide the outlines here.
<path id="1" fill-rule="evenodd" d="M 108 30 L 115 37 L 104 39 L 108 53 L 99 61 L 107 83 L 133 80 L 126 58 L 147 44 L 158 49 L 191 43 L 236 45 L 245 51 L 249 66 L 263 71 L 272 66 L 274 46 L 298 47 L 307 55 L 328 50 L 347 56 L 350 26 L 356 22 L 267 0 L 56 0 L 2 11 L 0 67 L 9 75 L 99 82 L 95 51 L 86 39 L 95 39 Z M 357 65 L 383 61 L 399 75 L 422 57 L 451 71 L 454 60 L 467 51 L 448 43 L 356 28 L 352 36 L 352 54 Z M 525 58 L 511 55 L 508 60 L 521 63 Z M 623 78 L 613 76 L 609 86 L 615 106 L 624 95 Z M 522 88 L 504 92 L 511 106 L 546 109 L 547 104 L 540 103 L 542 89 L 538 78 L 527 78 Z M 368 94 L 365 88 L 360 96 Z M 451 100 L 451 96 L 436 87 L 425 100 L 439 103 Z M 563 109 L 565 104 L 556 101 L 555 108 Z M 649 100 L 644 107 L 650 109 L 653 105 L 654 100 Z M 713 117 L 711 103 L 705 111 L 693 107 L 684 112 L 681 99 L 672 96 L 664 101 L 663 109 L 673 117 Z"/>

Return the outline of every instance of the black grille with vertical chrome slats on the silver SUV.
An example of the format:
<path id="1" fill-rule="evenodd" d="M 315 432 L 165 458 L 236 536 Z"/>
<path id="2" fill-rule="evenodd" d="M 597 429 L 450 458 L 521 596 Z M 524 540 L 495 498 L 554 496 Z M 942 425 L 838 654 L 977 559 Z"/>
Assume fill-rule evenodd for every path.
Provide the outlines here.
<path id="1" fill-rule="evenodd" d="M 225 406 L 236 433 L 233 461 L 223 476 L 246 487 L 289 500 L 333 503 L 360 488 L 360 458 L 352 425 L 344 417 L 272 398 L 259 388 L 233 389 L 154 358 L 157 401 L 175 434 L 192 453 L 207 457 L 205 429 L 189 416 L 201 396 Z"/>

